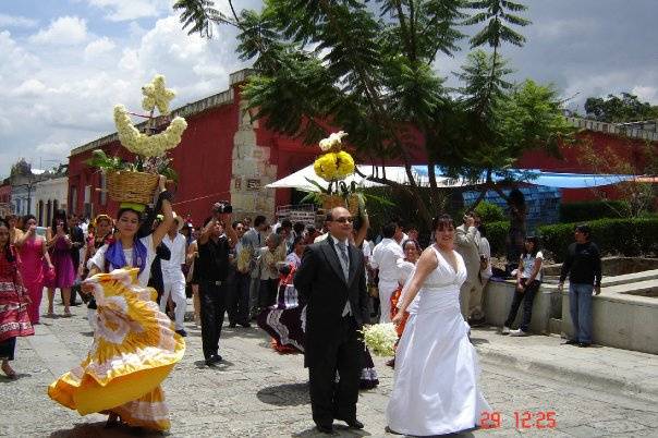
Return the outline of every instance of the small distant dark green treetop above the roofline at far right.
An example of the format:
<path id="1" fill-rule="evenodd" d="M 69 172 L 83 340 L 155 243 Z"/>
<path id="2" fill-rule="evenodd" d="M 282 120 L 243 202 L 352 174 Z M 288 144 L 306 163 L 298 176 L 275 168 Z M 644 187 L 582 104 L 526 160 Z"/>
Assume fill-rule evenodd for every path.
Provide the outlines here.
<path id="1" fill-rule="evenodd" d="M 637 96 L 622 93 L 620 97 L 588 97 L 585 100 L 586 117 L 601 122 L 623 123 L 658 119 L 658 106 L 639 101 Z"/>

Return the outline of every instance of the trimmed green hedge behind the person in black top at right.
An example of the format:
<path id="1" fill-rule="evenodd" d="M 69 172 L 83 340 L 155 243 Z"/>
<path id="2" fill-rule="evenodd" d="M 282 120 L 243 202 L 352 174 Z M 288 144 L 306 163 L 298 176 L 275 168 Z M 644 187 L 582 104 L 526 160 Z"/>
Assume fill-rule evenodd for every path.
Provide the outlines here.
<path id="1" fill-rule="evenodd" d="M 587 222 L 590 240 L 601 255 L 637 256 L 658 252 L 658 218 L 599 219 Z M 539 227 L 544 250 L 556 260 L 563 261 L 566 248 L 574 242 L 576 223 Z"/>

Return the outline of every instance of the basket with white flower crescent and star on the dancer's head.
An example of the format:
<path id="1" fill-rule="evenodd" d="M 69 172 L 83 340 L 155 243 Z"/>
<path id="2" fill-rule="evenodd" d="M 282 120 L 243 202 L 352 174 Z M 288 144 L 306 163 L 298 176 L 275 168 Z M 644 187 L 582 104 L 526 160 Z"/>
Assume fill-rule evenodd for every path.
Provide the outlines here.
<path id="1" fill-rule="evenodd" d="M 172 160 L 167 157 L 167 151 L 181 143 L 183 132 L 187 127 L 185 119 L 176 117 L 162 132 L 157 132 L 155 109 L 157 108 L 160 114 L 167 118 L 169 102 L 175 96 L 172 89 L 166 87 L 164 76 L 156 75 L 151 83 L 142 87 L 142 94 L 144 95 L 142 108 L 149 111 L 148 115 L 143 115 L 148 119 L 145 132 L 139 132 L 133 125 L 131 113 L 123 105 L 114 107 L 114 124 L 119 142 L 135 154 L 135 160 L 124 161 L 119 157 L 107 156 L 101 149 L 96 149 L 92 154 L 92 159 L 87 161 L 87 165 L 106 172 L 111 199 L 120 202 L 122 206 L 130 205 L 139 210 L 153 200 L 159 175 L 178 180 L 170 167 Z"/>

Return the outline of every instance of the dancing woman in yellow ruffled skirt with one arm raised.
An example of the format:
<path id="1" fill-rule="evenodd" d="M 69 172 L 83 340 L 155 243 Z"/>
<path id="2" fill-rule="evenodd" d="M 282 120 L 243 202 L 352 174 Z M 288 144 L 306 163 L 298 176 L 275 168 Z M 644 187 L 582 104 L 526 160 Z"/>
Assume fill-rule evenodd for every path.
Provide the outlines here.
<path id="1" fill-rule="evenodd" d="M 162 223 L 138 239 L 141 212 L 121 208 L 115 240 L 89 260 L 83 290 L 98 306 L 94 344 L 80 366 L 48 388 L 50 398 L 81 415 L 109 414 L 108 425 L 121 418 L 130 426 L 170 428 L 160 384 L 183 357 L 185 343 L 146 287 L 155 248 L 173 222 L 163 181 L 160 188 Z"/>

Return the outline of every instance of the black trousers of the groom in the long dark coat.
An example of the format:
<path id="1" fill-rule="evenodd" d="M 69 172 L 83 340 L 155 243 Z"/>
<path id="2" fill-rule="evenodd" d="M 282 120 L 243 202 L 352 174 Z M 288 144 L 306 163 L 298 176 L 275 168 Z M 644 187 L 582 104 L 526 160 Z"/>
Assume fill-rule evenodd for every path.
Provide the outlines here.
<path id="1" fill-rule="evenodd" d="M 333 418 L 356 418 L 364 346 L 354 318 L 342 318 L 334 336 L 332 342 L 325 344 L 324 360 L 308 367 L 313 421 L 322 426 L 331 425 Z M 338 382 L 337 370 L 340 375 Z"/>

